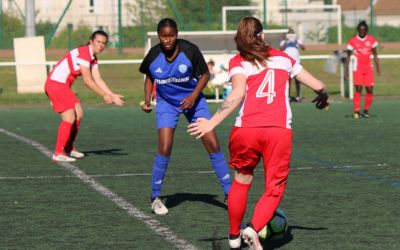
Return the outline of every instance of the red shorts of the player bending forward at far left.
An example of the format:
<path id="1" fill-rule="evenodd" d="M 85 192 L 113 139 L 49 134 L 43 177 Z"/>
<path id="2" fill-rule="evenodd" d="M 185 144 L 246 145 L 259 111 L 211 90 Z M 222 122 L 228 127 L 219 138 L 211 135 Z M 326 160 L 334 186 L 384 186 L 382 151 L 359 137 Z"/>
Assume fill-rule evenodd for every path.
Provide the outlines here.
<path id="1" fill-rule="evenodd" d="M 67 84 L 47 80 L 44 90 L 56 113 L 61 113 L 68 109 L 75 109 L 75 105 L 79 103 L 79 99 Z"/>

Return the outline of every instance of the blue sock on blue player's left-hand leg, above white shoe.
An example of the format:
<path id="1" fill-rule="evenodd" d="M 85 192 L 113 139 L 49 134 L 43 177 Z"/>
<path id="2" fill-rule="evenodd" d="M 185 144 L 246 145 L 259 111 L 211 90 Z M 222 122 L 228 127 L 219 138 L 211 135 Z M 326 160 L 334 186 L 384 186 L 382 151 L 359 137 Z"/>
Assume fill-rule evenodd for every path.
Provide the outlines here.
<path id="1" fill-rule="evenodd" d="M 153 175 L 151 179 L 151 199 L 160 196 L 165 173 L 167 172 L 170 156 L 156 155 L 153 164 Z"/>

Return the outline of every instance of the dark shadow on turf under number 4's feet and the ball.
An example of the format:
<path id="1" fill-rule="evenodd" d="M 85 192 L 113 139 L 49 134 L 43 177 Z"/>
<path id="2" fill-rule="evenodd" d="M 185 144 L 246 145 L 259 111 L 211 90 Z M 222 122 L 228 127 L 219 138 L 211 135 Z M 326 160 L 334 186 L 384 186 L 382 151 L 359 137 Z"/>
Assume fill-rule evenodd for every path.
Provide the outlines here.
<path id="1" fill-rule="evenodd" d="M 308 231 L 319 231 L 319 230 L 327 230 L 328 228 L 325 227 L 302 227 L 302 226 L 289 226 L 288 230 L 283 236 L 273 237 L 268 240 L 260 239 L 261 245 L 263 248 L 266 249 L 278 249 L 283 247 L 284 245 L 290 243 L 293 240 L 293 230 L 308 230 Z M 199 241 L 209 241 L 211 242 L 211 249 L 213 250 L 220 250 L 220 249 L 227 249 L 229 247 L 228 237 L 218 237 L 218 233 L 215 231 L 213 237 L 211 238 L 203 238 Z M 233 249 L 233 248 L 232 248 Z M 247 244 L 242 242 L 242 245 L 239 249 L 248 249 Z"/>

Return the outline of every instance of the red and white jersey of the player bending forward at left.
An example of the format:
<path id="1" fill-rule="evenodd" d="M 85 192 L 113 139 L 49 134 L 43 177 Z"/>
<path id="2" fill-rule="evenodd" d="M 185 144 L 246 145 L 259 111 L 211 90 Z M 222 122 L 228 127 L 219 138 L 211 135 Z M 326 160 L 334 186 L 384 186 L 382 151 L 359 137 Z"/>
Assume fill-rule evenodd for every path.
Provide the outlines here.
<path id="1" fill-rule="evenodd" d="M 68 52 L 54 66 L 48 79 L 71 86 L 76 77 L 80 76 L 80 65 L 92 69 L 98 67 L 97 57 L 90 45 L 84 45 Z"/>

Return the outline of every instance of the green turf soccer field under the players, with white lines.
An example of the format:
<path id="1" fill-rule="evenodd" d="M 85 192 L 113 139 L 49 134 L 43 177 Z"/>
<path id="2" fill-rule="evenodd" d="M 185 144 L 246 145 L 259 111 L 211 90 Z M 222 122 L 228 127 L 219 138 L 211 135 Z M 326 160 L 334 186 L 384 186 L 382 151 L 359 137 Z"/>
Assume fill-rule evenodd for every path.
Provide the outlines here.
<path id="1" fill-rule="evenodd" d="M 265 249 L 400 249 L 400 100 L 370 119 L 350 101 L 329 112 L 293 104 L 291 173 L 280 208 L 289 229 Z M 216 105 L 211 105 L 216 110 Z M 0 109 L 0 249 L 229 249 L 223 194 L 200 141 L 182 120 L 162 198 L 150 211 L 155 114 L 86 107 L 77 139 L 87 157 L 51 161 L 59 116 L 50 107 Z M 234 116 L 217 129 L 228 158 Z M 255 174 L 246 221 L 263 190 Z M 247 249 L 244 247 L 244 249 Z"/>

